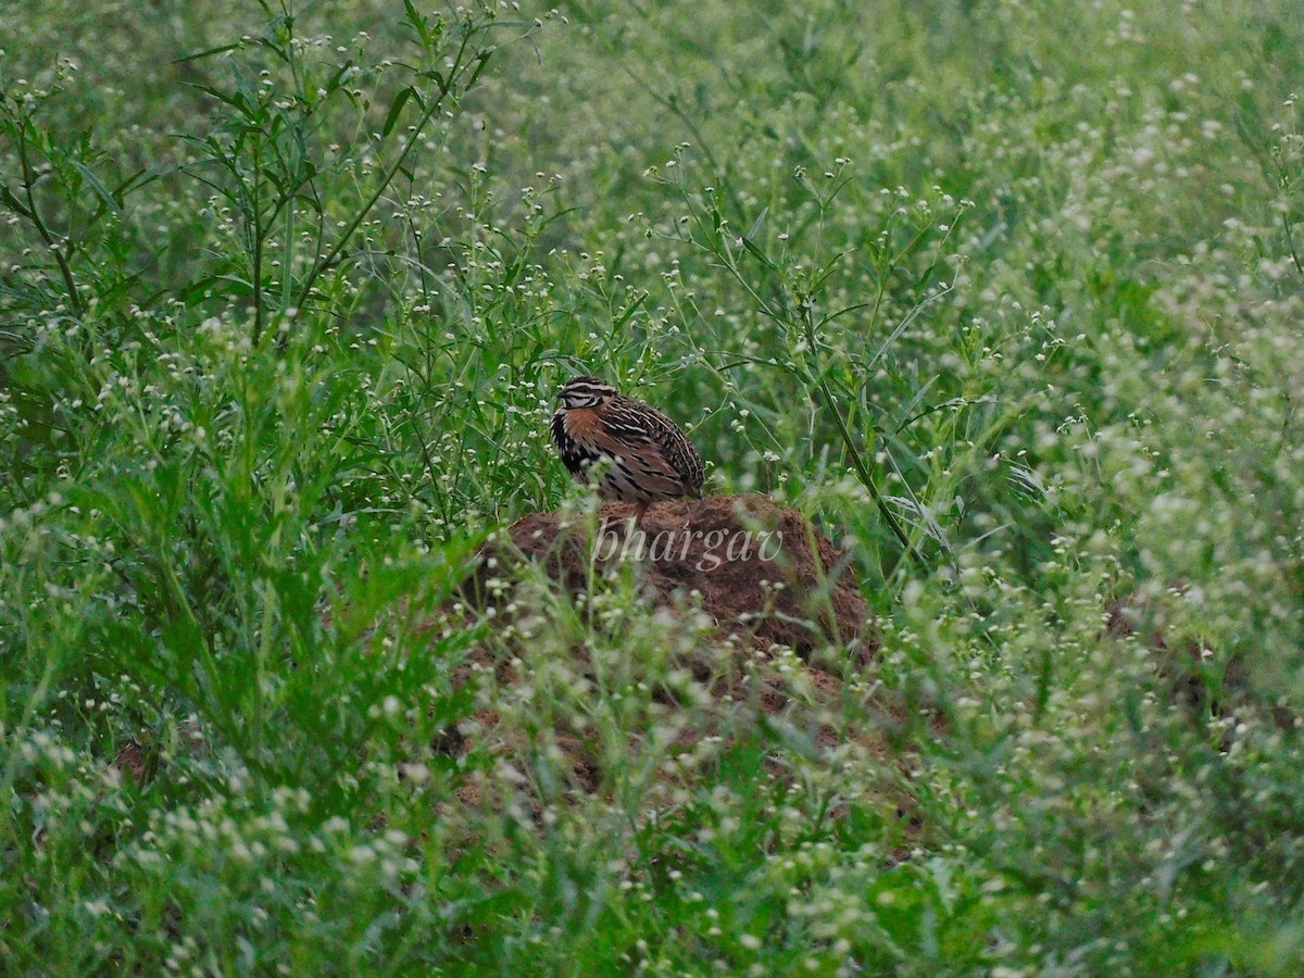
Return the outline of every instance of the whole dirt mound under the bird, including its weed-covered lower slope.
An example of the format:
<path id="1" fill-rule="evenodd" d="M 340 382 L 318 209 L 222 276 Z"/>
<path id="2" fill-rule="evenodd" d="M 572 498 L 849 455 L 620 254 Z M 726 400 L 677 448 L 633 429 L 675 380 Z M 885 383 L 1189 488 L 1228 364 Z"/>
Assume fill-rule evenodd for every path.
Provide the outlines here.
<path id="1" fill-rule="evenodd" d="M 562 797 L 636 790 L 652 811 L 682 803 L 698 772 L 746 752 L 752 738 L 786 745 L 767 751 L 756 772 L 778 782 L 794 781 L 805 763 L 797 758 L 885 755 L 874 733 L 883 712 L 846 683 L 878 651 L 846 554 L 795 510 L 758 496 L 659 503 L 638 528 L 632 516 L 630 505 L 535 514 L 481 550 L 463 597 L 496 609 L 503 627 L 459 669 L 476 709 L 438 748 L 479 751 L 507 773 L 472 765 L 458 793 L 463 806 L 515 806 L 542 819 Z M 682 613 L 685 627 L 651 615 L 629 636 L 640 651 L 632 656 L 606 644 L 618 647 L 619 636 L 592 645 L 523 639 L 511 626 L 539 612 L 537 576 L 522 575 L 524 565 L 575 595 L 632 570 L 647 602 Z M 626 622 L 638 630 L 635 618 Z M 848 724 L 848 711 L 861 722 Z M 629 732 L 614 751 L 613 724 Z M 630 781 L 631 772 L 643 773 Z"/>

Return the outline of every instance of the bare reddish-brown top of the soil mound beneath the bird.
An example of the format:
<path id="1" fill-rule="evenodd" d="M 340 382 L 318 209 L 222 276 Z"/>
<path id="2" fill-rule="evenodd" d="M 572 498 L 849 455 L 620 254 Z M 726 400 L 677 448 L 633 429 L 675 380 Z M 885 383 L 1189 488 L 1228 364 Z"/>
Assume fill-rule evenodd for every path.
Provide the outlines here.
<path id="1" fill-rule="evenodd" d="M 722 634 L 760 648 L 806 653 L 866 631 L 868 609 L 848 557 L 793 509 L 760 496 L 715 496 L 660 503 L 638 529 L 632 515 L 631 505 L 608 506 L 592 541 L 580 519 L 526 516 L 481 552 L 468 596 L 489 600 L 486 583 L 522 557 L 575 592 L 591 579 L 589 561 L 599 574 L 627 562 L 656 604 L 699 602 Z"/>

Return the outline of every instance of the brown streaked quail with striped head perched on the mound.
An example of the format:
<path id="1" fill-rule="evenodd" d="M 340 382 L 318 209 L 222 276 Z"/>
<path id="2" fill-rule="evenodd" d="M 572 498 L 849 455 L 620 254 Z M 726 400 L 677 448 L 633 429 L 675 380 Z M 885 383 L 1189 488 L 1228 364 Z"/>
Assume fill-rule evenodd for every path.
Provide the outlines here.
<path id="1" fill-rule="evenodd" d="M 562 463 L 588 485 L 592 466 L 610 459 L 599 494 L 632 502 L 635 526 L 643 526 L 652 503 L 702 498 L 702 455 L 683 429 L 655 407 L 589 376 L 572 377 L 557 399 L 552 430 Z"/>

